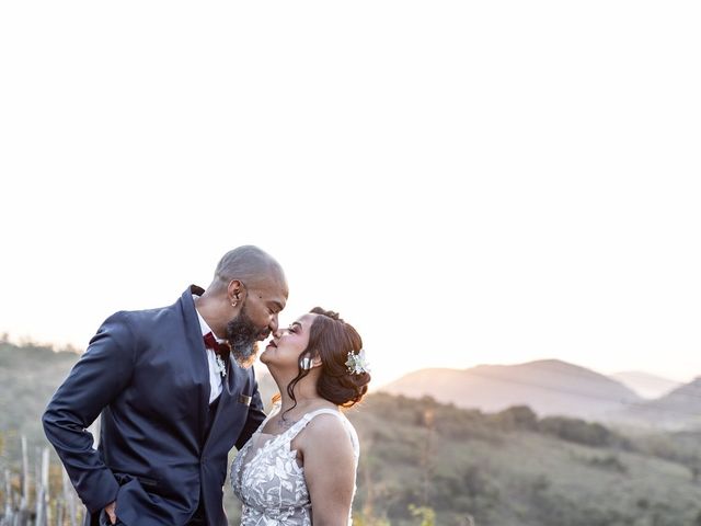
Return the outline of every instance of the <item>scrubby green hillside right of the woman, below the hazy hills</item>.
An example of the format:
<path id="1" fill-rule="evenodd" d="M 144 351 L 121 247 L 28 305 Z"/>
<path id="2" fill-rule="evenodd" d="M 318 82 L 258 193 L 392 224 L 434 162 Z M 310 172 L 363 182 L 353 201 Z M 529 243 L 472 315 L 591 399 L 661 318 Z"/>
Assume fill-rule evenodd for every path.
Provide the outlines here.
<path id="1" fill-rule="evenodd" d="M 701 525 L 698 436 L 631 438 L 522 407 L 484 414 L 383 393 L 348 416 L 363 446 L 358 518 L 418 524 L 415 505 L 456 526 Z"/>

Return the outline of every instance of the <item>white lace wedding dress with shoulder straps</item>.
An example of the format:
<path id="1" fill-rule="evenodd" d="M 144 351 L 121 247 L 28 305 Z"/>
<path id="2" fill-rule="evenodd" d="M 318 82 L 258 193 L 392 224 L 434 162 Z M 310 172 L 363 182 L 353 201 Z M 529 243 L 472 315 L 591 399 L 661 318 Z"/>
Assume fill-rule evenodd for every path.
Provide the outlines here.
<path id="1" fill-rule="evenodd" d="M 290 444 L 314 416 L 333 414 L 343 422 L 353 443 L 356 468 L 358 466 L 358 436 L 343 413 L 319 409 L 304 414 L 279 435 L 262 433 L 261 430 L 279 409 L 278 404 L 271 411 L 231 464 L 231 485 L 243 503 L 241 526 L 311 526 L 311 502 L 304 468 L 297 464 L 297 451 L 291 449 Z"/>

